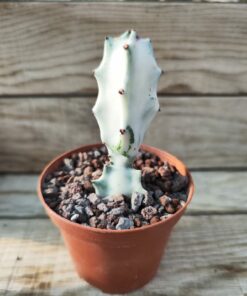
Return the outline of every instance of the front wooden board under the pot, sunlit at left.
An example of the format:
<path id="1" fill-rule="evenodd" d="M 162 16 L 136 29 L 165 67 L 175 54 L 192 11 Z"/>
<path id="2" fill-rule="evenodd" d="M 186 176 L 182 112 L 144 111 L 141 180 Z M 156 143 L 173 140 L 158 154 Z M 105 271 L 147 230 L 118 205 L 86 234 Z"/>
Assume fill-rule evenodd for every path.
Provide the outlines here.
<path id="1" fill-rule="evenodd" d="M 184 217 L 156 277 L 132 295 L 245 295 L 246 222 L 244 215 Z M 77 277 L 50 221 L 2 220 L 0 225 L 0 291 L 7 295 L 105 295 Z"/>

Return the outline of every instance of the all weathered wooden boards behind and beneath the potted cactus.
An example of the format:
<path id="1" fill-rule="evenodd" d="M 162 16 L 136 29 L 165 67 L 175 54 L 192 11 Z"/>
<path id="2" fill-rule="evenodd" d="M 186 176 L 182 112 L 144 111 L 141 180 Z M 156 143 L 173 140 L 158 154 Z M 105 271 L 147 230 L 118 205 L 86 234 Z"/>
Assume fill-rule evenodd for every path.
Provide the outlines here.
<path id="1" fill-rule="evenodd" d="M 180 157 L 196 186 L 132 295 L 247 295 L 247 3 L 214 1 L 0 2 L 0 295 L 105 295 L 76 276 L 35 186 L 58 153 L 99 141 L 92 70 L 105 35 L 130 28 L 166 71 L 145 143 Z"/>

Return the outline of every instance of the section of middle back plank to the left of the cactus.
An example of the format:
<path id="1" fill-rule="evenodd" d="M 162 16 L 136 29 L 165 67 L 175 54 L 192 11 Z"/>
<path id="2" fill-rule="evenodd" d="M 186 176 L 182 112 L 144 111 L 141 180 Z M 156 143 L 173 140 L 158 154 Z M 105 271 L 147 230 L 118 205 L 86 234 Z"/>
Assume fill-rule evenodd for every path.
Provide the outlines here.
<path id="1" fill-rule="evenodd" d="M 91 99 L 0 102 L 0 171 L 35 172 L 68 148 L 99 141 Z"/>

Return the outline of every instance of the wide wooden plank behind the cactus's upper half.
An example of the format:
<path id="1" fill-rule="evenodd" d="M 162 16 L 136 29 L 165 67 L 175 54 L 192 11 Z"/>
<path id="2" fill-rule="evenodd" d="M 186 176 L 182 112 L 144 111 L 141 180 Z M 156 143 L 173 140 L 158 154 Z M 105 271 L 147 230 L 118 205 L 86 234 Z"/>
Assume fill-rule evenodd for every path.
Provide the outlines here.
<path id="1" fill-rule="evenodd" d="M 106 34 L 153 40 L 161 93 L 247 92 L 246 4 L 1 3 L 0 94 L 97 91 Z"/>

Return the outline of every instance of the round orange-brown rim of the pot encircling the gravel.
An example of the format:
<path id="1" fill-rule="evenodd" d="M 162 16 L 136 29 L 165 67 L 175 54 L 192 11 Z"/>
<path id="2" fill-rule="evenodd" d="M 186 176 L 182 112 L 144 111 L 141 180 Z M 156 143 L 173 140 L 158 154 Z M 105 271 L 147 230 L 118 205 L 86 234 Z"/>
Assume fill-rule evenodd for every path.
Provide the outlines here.
<path id="1" fill-rule="evenodd" d="M 159 221 L 157 223 L 149 224 L 147 226 L 142 226 L 142 227 L 133 228 L 133 229 L 125 229 L 125 230 L 100 229 L 100 228 L 95 228 L 95 227 L 91 227 L 91 226 L 85 226 L 85 225 L 82 225 L 82 224 L 74 223 L 74 222 L 60 216 L 55 211 L 53 211 L 48 206 L 48 204 L 45 202 L 44 196 L 42 194 L 42 189 L 41 189 L 42 188 L 42 182 L 43 182 L 45 176 L 48 174 L 48 171 L 49 171 L 50 167 L 54 163 L 57 163 L 59 160 L 62 160 L 63 158 L 68 157 L 68 155 L 72 155 L 73 153 L 80 152 L 81 150 L 83 150 L 83 148 L 87 148 L 85 151 L 89 151 L 92 148 L 98 148 L 98 147 L 101 147 L 103 145 L 104 144 L 102 144 L 102 143 L 96 143 L 96 144 L 90 144 L 90 145 L 82 145 L 82 146 L 80 146 L 78 148 L 75 148 L 75 149 L 66 151 L 66 152 L 64 152 L 62 154 L 59 154 L 57 157 L 55 157 L 53 160 L 51 160 L 44 167 L 44 169 L 42 170 L 42 172 L 41 172 L 41 174 L 39 175 L 39 178 L 38 178 L 37 193 L 38 193 L 38 197 L 39 197 L 42 205 L 44 206 L 47 214 L 49 214 L 50 216 L 54 216 L 54 218 L 59 220 L 61 223 L 65 223 L 68 226 L 73 226 L 73 227 L 77 228 L 78 230 L 89 231 L 89 232 L 94 232 L 94 233 L 101 233 L 101 234 L 103 234 L 103 233 L 105 233 L 105 234 L 114 234 L 114 233 L 115 234 L 126 234 L 126 233 L 134 233 L 134 232 L 146 231 L 147 229 L 152 229 L 152 228 L 158 227 L 161 224 L 165 224 L 168 221 L 170 221 L 172 219 L 175 219 L 177 216 L 180 215 L 180 213 L 182 214 L 182 212 L 184 212 L 186 210 L 188 204 L 192 200 L 194 190 L 195 190 L 194 189 L 194 182 L 193 182 L 193 179 L 192 179 L 192 176 L 191 176 L 189 170 L 187 169 L 187 167 L 185 166 L 185 164 L 181 160 L 179 160 L 177 157 L 173 156 L 172 154 L 170 154 L 170 153 L 168 153 L 168 152 L 166 152 L 164 150 L 158 149 L 156 147 L 142 144 L 140 148 L 142 148 L 143 150 L 146 150 L 148 152 L 149 152 L 149 150 L 152 150 L 153 152 L 151 152 L 151 153 L 154 153 L 154 154 L 156 154 L 156 153 L 159 154 L 159 152 L 164 153 L 165 158 L 168 161 L 168 163 L 170 163 L 171 160 L 173 160 L 172 162 L 175 161 L 176 164 L 179 163 L 182 166 L 182 168 L 184 169 L 186 175 L 189 177 L 188 198 L 187 198 L 187 201 L 185 202 L 185 205 L 183 207 L 181 207 L 181 209 L 179 209 L 174 214 L 171 214 L 168 218 L 166 218 L 164 220 L 161 220 L 161 221 Z M 176 167 L 176 165 L 175 165 L 175 167 Z"/>

